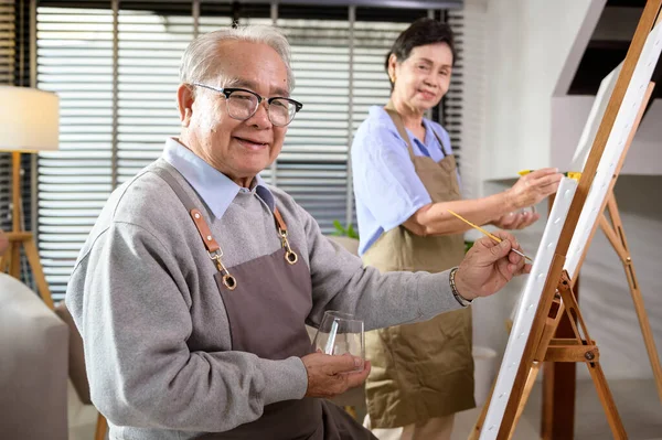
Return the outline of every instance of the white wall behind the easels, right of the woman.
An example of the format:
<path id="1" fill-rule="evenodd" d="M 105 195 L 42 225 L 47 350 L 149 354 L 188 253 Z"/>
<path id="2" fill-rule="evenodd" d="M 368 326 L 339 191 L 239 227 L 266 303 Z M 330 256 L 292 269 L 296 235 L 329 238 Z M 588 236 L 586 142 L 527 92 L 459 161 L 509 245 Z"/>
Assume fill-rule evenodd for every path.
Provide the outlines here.
<path id="1" fill-rule="evenodd" d="M 569 163 L 594 97 L 563 96 L 573 78 L 605 0 L 467 0 L 466 96 L 462 161 L 473 161 L 472 195 L 514 183 L 521 169 Z M 472 54 L 472 52 L 474 52 Z M 482 60 L 474 54 L 484 54 Z M 478 71 L 481 69 L 482 71 Z M 473 71 L 477 69 L 477 71 Z M 660 174 L 662 104 L 647 115 L 623 174 Z M 467 130 L 471 129 L 471 132 Z M 658 169 L 655 169 L 658 167 Z M 510 179 L 510 180 L 509 180 Z M 641 291 L 662 352 L 662 176 L 623 175 L 616 193 Z M 546 203 L 538 206 L 546 213 Z M 535 253 L 544 218 L 517 238 Z M 600 347 L 608 379 L 651 378 L 641 331 L 622 266 L 598 232 L 581 269 L 580 305 Z M 473 307 L 474 344 L 502 353 L 505 320 L 524 285 L 520 278 Z M 586 368 L 578 368 L 588 377 Z"/>

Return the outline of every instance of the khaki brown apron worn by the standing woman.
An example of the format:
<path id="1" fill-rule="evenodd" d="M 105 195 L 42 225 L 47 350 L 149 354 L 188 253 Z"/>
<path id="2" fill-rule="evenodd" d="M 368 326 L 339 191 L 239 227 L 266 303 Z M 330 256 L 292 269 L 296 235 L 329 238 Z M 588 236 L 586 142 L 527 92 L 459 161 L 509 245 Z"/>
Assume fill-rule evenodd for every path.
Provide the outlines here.
<path id="1" fill-rule="evenodd" d="M 460 200 L 453 155 L 439 162 L 415 155 L 391 103 L 386 111 L 407 142 L 409 158 L 433 203 Z M 440 272 L 458 266 L 463 256 L 461 234 L 421 237 L 401 225 L 382 234 L 363 255 L 363 262 L 381 271 Z M 404 427 L 476 406 L 470 308 L 366 332 L 365 354 L 372 363 L 365 390 L 373 428 Z"/>

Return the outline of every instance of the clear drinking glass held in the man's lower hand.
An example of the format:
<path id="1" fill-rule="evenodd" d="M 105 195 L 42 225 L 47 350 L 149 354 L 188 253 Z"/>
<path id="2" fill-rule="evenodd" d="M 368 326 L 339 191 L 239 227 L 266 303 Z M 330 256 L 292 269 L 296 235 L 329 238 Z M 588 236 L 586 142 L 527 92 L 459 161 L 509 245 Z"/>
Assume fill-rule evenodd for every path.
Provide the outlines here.
<path id="1" fill-rule="evenodd" d="M 365 362 L 363 321 L 349 313 L 328 310 L 314 335 L 312 346 L 321 353 L 331 355 L 349 353 L 361 358 L 361 365 L 355 368 L 361 372 Z"/>

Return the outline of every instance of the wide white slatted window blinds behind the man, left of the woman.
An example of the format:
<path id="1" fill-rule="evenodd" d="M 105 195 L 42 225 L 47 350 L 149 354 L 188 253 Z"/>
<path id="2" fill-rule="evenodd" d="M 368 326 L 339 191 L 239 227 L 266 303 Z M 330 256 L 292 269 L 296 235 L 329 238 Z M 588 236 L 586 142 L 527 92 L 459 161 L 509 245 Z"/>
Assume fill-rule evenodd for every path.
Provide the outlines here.
<path id="1" fill-rule="evenodd" d="M 335 219 L 355 226 L 352 137 L 370 106 L 388 98 L 386 51 L 427 11 L 352 8 L 41 0 L 38 85 L 57 92 L 62 107 L 60 151 L 39 159 L 40 250 L 54 297 L 64 293 L 113 189 L 179 133 L 175 90 L 186 44 L 233 21 L 284 30 L 292 46 L 293 97 L 305 104 L 263 178 L 290 193 L 322 232 L 331 233 Z"/>

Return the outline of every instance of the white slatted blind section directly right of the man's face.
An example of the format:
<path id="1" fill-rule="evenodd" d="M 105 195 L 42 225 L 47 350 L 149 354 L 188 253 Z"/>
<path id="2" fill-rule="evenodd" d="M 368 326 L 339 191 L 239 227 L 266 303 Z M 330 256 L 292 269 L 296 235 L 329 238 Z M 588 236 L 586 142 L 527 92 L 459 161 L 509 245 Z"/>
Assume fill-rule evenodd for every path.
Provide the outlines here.
<path id="1" fill-rule="evenodd" d="M 348 182 L 349 23 L 279 19 L 292 46 L 295 97 L 305 103 L 277 163 L 277 185 L 322 232 L 345 223 Z"/>

